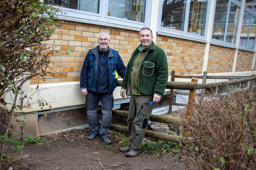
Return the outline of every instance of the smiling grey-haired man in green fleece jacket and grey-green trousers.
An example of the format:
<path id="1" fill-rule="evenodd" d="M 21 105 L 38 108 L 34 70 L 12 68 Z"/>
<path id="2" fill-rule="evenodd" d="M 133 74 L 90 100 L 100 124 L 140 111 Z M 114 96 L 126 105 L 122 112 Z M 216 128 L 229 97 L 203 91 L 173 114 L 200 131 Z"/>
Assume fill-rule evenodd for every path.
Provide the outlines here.
<path id="1" fill-rule="evenodd" d="M 139 45 L 133 52 L 122 80 L 120 95 L 131 96 L 128 122 L 129 142 L 121 147 L 125 156 L 134 157 L 140 153 L 148 119 L 154 104 L 160 102 L 168 81 L 168 63 L 165 52 L 157 47 L 151 29 L 139 32 Z M 126 92 L 126 93 L 125 93 Z"/>

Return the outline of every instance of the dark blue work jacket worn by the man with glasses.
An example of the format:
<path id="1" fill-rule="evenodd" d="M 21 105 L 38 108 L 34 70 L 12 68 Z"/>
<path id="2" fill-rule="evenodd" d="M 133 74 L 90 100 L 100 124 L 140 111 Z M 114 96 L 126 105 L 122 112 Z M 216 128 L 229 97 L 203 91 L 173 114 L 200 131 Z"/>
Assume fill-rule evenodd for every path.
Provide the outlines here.
<path id="1" fill-rule="evenodd" d="M 99 46 L 96 48 L 90 49 L 84 59 L 84 64 L 81 70 L 81 77 L 80 77 L 80 88 L 87 88 L 89 91 L 96 91 L 97 85 L 97 72 L 98 67 L 106 67 L 105 65 L 99 65 Z M 108 93 L 112 93 L 118 82 L 115 76 L 115 71 L 120 75 L 122 78 L 125 75 L 126 66 L 122 61 L 122 58 L 118 54 L 118 51 L 109 48 L 108 54 L 108 68 L 103 68 L 108 71 L 108 79 L 109 79 L 109 90 Z"/>

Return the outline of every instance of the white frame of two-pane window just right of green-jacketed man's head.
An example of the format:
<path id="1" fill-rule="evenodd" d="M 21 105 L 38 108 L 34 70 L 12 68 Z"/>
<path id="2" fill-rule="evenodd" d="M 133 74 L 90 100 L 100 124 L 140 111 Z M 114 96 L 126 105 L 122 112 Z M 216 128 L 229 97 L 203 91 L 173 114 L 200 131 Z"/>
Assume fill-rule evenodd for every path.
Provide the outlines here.
<path id="1" fill-rule="evenodd" d="M 206 14 L 206 19 L 205 19 L 204 36 L 187 32 L 188 21 L 189 21 L 190 2 L 191 2 L 191 0 L 187 0 L 187 2 L 186 2 L 184 31 L 178 31 L 178 30 L 175 30 L 175 29 L 165 28 L 165 27 L 161 26 L 162 13 L 163 13 L 163 0 L 160 0 L 158 23 L 157 23 L 157 34 L 206 43 L 207 42 L 207 40 L 206 40 L 206 38 L 207 38 L 207 29 L 208 29 L 208 23 L 209 23 L 209 8 L 210 8 L 211 0 L 208 0 L 208 3 L 207 3 L 207 14 Z"/>

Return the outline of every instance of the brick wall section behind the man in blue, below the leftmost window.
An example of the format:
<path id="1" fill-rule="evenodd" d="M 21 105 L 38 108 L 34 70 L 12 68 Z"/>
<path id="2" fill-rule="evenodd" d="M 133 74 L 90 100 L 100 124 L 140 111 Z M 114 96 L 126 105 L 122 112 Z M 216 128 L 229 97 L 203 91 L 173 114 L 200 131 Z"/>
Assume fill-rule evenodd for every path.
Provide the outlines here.
<path id="1" fill-rule="evenodd" d="M 57 28 L 51 39 L 45 42 L 46 48 L 67 53 L 67 48 L 74 50 L 70 55 L 51 56 L 52 62 L 47 68 L 54 77 L 48 75 L 44 78 L 34 77 L 30 84 L 76 82 L 80 81 L 81 67 L 87 51 L 98 45 L 99 32 L 106 31 L 110 34 L 110 47 L 119 51 L 125 65 L 127 65 L 132 52 L 140 44 L 138 31 L 131 31 L 107 26 L 98 26 L 86 23 L 64 21 L 59 23 L 62 28 Z"/>

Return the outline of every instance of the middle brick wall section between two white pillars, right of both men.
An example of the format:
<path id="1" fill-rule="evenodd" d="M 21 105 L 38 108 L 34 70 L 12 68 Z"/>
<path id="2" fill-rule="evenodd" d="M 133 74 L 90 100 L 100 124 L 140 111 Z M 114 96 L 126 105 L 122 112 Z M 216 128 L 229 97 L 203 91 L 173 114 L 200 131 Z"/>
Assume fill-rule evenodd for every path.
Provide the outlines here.
<path id="1" fill-rule="evenodd" d="M 235 49 L 217 45 L 210 45 L 207 72 L 226 73 L 232 72 Z"/>

